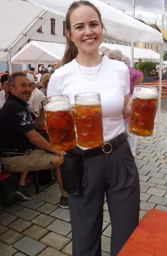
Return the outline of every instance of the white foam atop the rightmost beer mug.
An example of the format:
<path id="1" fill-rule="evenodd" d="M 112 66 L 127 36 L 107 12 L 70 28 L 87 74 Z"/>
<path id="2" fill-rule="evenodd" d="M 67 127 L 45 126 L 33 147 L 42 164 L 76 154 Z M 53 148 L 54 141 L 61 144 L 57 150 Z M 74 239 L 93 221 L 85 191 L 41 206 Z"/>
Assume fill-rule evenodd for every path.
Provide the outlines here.
<path id="1" fill-rule="evenodd" d="M 134 98 L 141 98 L 141 99 L 157 99 L 158 93 L 156 88 L 134 88 L 133 91 L 133 97 Z"/>

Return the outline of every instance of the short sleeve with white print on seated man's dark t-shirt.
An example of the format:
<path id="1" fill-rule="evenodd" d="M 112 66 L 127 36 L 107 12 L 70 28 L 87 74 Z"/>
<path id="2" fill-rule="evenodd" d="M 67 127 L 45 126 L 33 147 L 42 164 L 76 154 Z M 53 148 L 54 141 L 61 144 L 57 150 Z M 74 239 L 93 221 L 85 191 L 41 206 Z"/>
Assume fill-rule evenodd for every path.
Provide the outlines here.
<path id="1" fill-rule="evenodd" d="M 29 132 L 35 129 L 35 116 L 33 113 L 24 110 L 23 108 L 15 108 L 12 112 L 13 123 L 19 134 Z"/>

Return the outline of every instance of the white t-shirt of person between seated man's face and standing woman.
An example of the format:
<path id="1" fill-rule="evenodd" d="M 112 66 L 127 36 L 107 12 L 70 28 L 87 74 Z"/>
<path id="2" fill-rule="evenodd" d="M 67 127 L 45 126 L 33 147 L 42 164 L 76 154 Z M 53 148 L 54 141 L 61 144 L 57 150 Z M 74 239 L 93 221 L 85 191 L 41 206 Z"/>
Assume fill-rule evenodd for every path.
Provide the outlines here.
<path id="1" fill-rule="evenodd" d="M 30 109 L 32 112 L 39 112 L 39 105 L 41 101 L 44 100 L 46 97 L 43 92 L 41 92 L 38 88 L 35 88 L 32 92 L 32 95 L 28 101 L 30 104 Z"/>

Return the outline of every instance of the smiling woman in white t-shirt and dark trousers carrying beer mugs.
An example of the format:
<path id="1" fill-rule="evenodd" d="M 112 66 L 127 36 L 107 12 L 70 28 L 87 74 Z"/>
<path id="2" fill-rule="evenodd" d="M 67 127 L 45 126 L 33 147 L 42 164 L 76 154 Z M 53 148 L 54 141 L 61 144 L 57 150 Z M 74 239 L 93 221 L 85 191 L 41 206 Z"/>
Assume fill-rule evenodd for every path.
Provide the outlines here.
<path id="1" fill-rule="evenodd" d="M 140 205 L 137 168 L 124 134 L 123 118 L 130 114 L 129 71 L 124 63 L 99 55 L 103 23 L 93 4 L 74 2 L 66 28 L 64 66 L 51 76 L 47 95 L 67 94 L 73 104 L 77 93 L 100 93 L 104 142 L 113 146 L 109 154 L 102 145 L 91 148 L 93 154 L 82 161 L 81 195 L 68 195 L 73 256 L 101 255 L 105 194 L 112 223 L 111 255 L 117 255 L 138 224 Z M 87 150 L 77 146 L 73 152 Z"/>

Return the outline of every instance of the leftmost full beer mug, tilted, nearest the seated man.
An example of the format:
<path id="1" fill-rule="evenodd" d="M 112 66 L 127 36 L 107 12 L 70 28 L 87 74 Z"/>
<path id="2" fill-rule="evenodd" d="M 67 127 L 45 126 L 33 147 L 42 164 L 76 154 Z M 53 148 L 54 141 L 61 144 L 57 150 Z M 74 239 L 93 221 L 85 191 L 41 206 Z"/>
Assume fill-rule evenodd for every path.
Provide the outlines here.
<path id="1" fill-rule="evenodd" d="M 55 151 L 66 151 L 75 147 L 76 133 L 69 97 L 47 97 L 43 100 L 43 108 L 51 147 Z"/>

